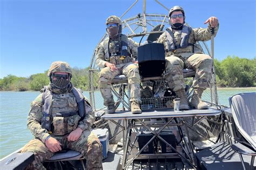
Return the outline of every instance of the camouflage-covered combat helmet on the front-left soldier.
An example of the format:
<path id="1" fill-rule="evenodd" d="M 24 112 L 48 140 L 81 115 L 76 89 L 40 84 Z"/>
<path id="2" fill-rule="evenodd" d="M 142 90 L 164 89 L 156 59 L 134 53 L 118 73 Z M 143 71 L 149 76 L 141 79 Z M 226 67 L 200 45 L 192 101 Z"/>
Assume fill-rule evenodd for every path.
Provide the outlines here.
<path id="1" fill-rule="evenodd" d="M 47 76 L 50 77 L 52 75 L 52 73 L 56 73 L 56 72 L 69 73 L 70 77 L 72 77 L 71 67 L 69 66 L 69 63 L 64 62 L 64 61 L 52 62 Z"/>

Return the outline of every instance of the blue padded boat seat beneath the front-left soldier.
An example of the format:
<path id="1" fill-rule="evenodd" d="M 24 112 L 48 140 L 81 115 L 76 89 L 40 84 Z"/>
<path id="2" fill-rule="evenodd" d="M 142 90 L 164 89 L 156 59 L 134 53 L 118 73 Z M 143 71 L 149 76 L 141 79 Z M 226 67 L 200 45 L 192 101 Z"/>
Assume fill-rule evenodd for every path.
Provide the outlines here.
<path id="1" fill-rule="evenodd" d="M 66 161 L 66 160 L 77 160 L 79 158 L 82 158 L 83 155 L 80 154 L 80 152 L 67 150 L 67 151 L 61 151 L 56 154 L 54 154 L 50 159 L 46 160 L 46 162 L 50 161 Z"/>

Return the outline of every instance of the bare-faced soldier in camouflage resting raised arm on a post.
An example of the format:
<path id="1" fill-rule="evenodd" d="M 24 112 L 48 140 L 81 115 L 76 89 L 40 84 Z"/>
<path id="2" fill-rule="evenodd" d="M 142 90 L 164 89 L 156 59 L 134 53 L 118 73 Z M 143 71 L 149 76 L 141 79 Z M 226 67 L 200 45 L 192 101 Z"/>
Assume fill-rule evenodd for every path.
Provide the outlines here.
<path id="1" fill-rule="evenodd" d="M 219 28 L 218 19 L 208 18 L 204 23 L 208 23 L 206 29 L 192 29 L 185 24 L 183 8 L 174 6 L 169 12 L 169 23 L 171 27 L 166 29 L 157 40 L 164 44 L 166 51 L 166 73 L 168 73 L 166 80 L 180 98 L 180 109 L 188 110 L 183 68 L 195 70 L 196 75 L 192 84 L 194 93 L 190 106 L 196 109 L 207 109 L 208 105 L 201 101 L 201 95 L 210 81 L 213 61 L 210 56 L 203 54 L 203 50 L 196 42 L 210 40 L 211 27 L 214 28 L 214 36 L 216 36 Z"/>

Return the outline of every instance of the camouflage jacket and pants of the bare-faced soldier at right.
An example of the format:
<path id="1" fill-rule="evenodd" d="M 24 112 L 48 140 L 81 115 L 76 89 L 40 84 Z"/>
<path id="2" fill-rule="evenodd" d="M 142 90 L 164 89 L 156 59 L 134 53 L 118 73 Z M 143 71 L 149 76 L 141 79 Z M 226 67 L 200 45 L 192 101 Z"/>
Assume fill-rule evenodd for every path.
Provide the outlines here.
<path id="1" fill-rule="evenodd" d="M 210 40 L 210 29 L 210 25 L 208 25 L 207 29 L 192 29 L 188 43 L 194 44 L 194 47 L 178 48 L 174 52 L 168 51 L 167 32 L 161 34 L 157 40 L 158 43 L 164 44 L 166 50 L 166 72 L 169 73 L 166 80 L 169 81 L 169 86 L 174 91 L 184 89 L 186 86 L 183 78 L 183 68 L 190 68 L 196 71 L 193 87 L 207 88 L 207 82 L 210 80 L 212 73 L 212 59 L 198 50 L 199 46 L 195 44 L 197 41 Z M 217 34 L 217 31 L 218 26 L 214 28 L 214 36 Z M 179 45 L 181 42 L 181 30 L 173 31 L 173 36 L 177 40 L 176 45 Z"/>

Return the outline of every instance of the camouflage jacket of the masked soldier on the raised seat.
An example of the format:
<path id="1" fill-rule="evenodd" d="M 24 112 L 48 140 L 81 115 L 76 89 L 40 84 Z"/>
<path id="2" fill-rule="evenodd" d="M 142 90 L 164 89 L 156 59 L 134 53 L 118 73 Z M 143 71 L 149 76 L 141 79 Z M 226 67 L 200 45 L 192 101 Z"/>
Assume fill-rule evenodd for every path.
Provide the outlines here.
<path id="1" fill-rule="evenodd" d="M 122 36 L 125 36 L 125 35 L 122 34 Z M 108 51 L 107 49 L 108 46 L 106 44 L 109 44 L 109 42 L 111 43 L 111 41 L 113 40 L 107 37 L 98 45 L 96 49 L 95 62 L 97 66 L 100 68 L 105 67 L 105 63 L 107 62 L 105 60 L 105 56 L 107 55 L 106 52 Z M 132 40 L 131 38 L 127 38 L 127 45 L 128 45 L 128 49 L 127 49 L 128 53 L 132 54 L 133 58 L 136 58 L 138 56 L 138 46 L 139 46 L 138 43 Z"/>

